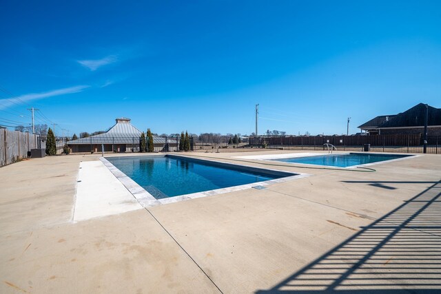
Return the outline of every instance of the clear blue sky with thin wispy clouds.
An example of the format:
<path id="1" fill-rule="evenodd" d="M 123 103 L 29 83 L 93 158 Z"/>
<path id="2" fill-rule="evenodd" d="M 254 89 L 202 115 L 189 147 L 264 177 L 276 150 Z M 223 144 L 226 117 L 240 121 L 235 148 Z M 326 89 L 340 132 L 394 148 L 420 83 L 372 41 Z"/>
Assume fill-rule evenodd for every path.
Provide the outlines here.
<path id="1" fill-rule="evenodd" d="M 2 1 L 0 123 L 251 134 L 259 103 L 260 134 L 353 134 L 441 107 L 441 1 L 136 2 Z"/>

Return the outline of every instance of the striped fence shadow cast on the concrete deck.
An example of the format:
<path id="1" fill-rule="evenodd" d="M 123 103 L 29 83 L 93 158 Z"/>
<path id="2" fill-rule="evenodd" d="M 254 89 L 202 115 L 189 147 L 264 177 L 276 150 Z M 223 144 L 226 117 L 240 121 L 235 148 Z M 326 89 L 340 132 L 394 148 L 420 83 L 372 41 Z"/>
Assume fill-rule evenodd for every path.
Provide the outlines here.
<path id="1" fill-rule="evenodd" d="M 430 187 L 256 293 L 441 293 L 441 181 L 420 183 Z"/>

